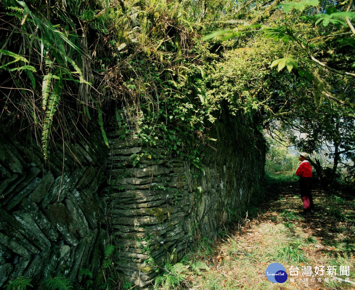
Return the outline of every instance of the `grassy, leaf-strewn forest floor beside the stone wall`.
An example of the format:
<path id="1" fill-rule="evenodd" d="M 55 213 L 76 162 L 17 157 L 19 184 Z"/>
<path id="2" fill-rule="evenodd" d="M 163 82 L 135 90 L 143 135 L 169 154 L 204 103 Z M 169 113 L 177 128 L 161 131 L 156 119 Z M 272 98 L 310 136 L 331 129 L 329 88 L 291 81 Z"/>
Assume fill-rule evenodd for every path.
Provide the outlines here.
<path id="1" fill-rule="evenodd" d="M 191 271 L 185 287 L 355 290 L 355 196 L 315 188 L 313 200 L 316 211 L 303 216 L 297 181 L 268 184 L 242 225 L 226 228 L 215 243 L 203 240 L 190 255 L 209 271 Z M 271 263 L 285 268 L 284 283 L 267 279 Z"/>

